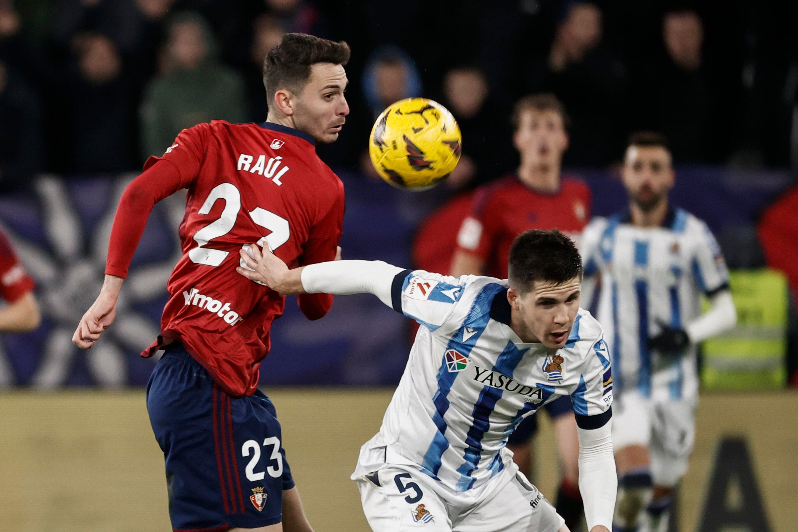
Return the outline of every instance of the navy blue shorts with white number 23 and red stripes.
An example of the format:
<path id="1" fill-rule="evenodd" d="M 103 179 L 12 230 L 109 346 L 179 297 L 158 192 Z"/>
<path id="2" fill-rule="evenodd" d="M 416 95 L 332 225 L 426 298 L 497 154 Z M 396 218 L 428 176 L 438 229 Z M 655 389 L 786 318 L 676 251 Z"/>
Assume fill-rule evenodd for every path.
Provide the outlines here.
<path id="1" fill-rule="evenodd" d="M 178 344 L 152 371 L 147 411 L 164 451 L 172 530 L 282 522 L 282 491 L 294 479 L 263 392 L 228 396 Z"/>

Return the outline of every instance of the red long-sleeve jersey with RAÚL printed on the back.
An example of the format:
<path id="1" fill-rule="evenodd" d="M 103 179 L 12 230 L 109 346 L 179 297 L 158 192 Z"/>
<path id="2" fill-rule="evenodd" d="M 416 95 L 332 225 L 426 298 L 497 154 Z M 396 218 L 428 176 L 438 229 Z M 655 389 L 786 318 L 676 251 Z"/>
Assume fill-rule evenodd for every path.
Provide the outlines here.
<path id="1" fill-rule="evenodd" d="M 183 257 L 168 281 L 162 332 L 141 354 L 149 357 L 169 341 L 181 341 L 228 393 L 251 395 L 269 351 L 271 322 L 282 315 L 285 298 L 235 271 L 243 266 L 239 250 L 268 244 L 290 268 L 333 260 L 342 234 L 343 183 L 318 158 L 312 137 L 279 124 L 214 120 L 185 129 L 164 156 L 144 164 L 139 179 L 154 164 L 165 164 L 160 161 L 176 171 L 164 167 L 163 179 L 125 191 L 106 273 L 127 274 L 131 247 L 144 229 L 137 223 L 137 233 L 131 231 L 128 217 L 146 211 L 146 220 L 152 204 L 188 187 L 180 225 Z M 321 317 L 331 300 L 306 294 L 299 303 L 309 317 Z"/>

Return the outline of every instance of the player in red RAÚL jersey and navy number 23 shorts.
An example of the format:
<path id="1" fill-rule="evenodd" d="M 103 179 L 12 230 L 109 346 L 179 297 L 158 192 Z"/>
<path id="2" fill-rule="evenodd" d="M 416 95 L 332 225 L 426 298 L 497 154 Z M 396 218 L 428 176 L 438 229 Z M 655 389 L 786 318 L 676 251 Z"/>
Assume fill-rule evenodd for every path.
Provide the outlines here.
<path id="1" fill-rule="evenodd" d="M 235 268 L 250 242 L 294 266 L 336 258 L 343 185 L 315 143 L 337 140 L 349 114 L 349 57 L 345 42 L 287 34 L 264 61 L 266 122 L 185 129 L 120 199 L 105 284 L 73 341 L 89 349 L 111 325 L 153 204 L 187 188 L 183 256 L 168 281 L 160 336 L 141 353 L 165 351 L 147 409 L 164 451 L 174 530 L 311 530 L 275 408 L 257 388 L 285 298 Z M 332 296 L 302 295 L 298 304 L 314 320 Z"/>

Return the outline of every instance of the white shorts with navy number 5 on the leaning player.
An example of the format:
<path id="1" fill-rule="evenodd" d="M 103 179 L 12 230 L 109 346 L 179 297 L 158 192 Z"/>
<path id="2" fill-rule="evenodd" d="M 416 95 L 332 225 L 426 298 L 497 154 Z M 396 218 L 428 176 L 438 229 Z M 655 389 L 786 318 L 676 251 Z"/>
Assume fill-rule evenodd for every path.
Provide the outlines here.
<path id="1" fill-rule="evenodd" d="M 496 489 L 462 494 L 409 466 L 392 464 L 369 478 L 379 486 L 361 478 L 358 489 L 374 532 L 558 532 L 565 523 L 521 472 L 496 478 L 504 482 Z"/>

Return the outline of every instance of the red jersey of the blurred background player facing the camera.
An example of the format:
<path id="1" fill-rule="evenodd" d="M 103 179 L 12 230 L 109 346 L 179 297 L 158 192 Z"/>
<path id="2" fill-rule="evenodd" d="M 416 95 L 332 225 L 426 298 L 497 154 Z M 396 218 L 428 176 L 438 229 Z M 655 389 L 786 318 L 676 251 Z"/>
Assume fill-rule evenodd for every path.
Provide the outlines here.
<path id="1" fill-rule="evenodd" d="M 579 179 L 563 178 L 559 191 L 547 193 L 508 175 L 478 189 L 457 246 L 482 258 L 488 275 L 504 279 L 516 236 L 530 229 L 559 229 L 578 238 L 590 219 L 590 205 L 591 191 Z"/>

